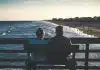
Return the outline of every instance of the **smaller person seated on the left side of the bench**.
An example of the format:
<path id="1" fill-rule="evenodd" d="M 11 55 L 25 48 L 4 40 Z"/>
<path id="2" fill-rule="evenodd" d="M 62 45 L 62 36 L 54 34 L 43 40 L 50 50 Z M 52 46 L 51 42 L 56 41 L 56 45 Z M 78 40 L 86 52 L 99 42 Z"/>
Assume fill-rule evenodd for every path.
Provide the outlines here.
<path id="1" fill-rule="evenodd" d="M 36 31 L 36 40 L 43 40 L 44 38 L 44 32 L 42 28 L 38 28 Z M 36 69 L 37 61 L 41 61 L 44 59 L 42 53 L 37 49 L 38 46 L 33 47 L 33 52 L 31 53 L 31 58 L 30 58 L 30 66 L 29 68 L 33 68 L 34 70 Z"/>

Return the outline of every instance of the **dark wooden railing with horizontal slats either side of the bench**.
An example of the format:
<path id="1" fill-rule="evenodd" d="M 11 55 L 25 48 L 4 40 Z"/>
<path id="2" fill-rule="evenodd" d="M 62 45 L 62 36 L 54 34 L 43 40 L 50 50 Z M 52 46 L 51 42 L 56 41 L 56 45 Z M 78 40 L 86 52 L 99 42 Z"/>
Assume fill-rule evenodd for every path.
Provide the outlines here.
<path id="1" fill-rule="evenodd" d="M 0 44 L 24 44 L 28 45 L 29 40 L 32 40 L 32 38 L 1 38 Z M 89 66 L 90 62 L 100 62 L 100 59 L 89 59 L 89 53 L 100 53 L 100 49 L 98 50 L 90 50 L 89 46 L 90 44 L 100 44 L 100 38 L 70 38 L 72 44 L 85 44 L 86 48 L 85 50 L 79 50 L 76 53 L 85 53 L 85 58 L 77 58 L 77 61 L 83 61 L 85 62 L 85 66 L 77 66 L 77 69 L 100 69 L 100 66 Z M 0 50 L 0 53 L 27 53 L 25 50 Z M 7 59 L 7 58 L 0 58 L 1 61 L 16 61 L 16 62 L 22 62 L 26 61 L 27 58 L 16 58 L 16 59 Z M 23 66 L 15 66 L 15 65 L 0 65 L 0 68 L 25 68 L 25 65 Z M 47 67 L 41 67 L 38 66 L 38 68 L 47 68 Z M 57 67 L 56 67 L 57 68 Z M 62 67 L 58 67 L 62 68 Z"/>

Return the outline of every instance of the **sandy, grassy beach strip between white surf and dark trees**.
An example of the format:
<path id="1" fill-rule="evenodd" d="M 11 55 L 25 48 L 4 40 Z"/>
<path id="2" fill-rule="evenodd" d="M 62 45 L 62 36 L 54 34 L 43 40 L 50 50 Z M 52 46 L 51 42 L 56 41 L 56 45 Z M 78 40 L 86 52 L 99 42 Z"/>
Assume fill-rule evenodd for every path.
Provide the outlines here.
<path id="1" fill-rule="evenodd" d="M 53 22 L 58 25 L 64 25 L 64 26 L 77 28 L 80 31 L 83 31 L 83 33 L 100 37 L 100 23 L 63 22 L 63 21 L 52 21 L 52 20 L 49 20 L 49 22 Z"/>

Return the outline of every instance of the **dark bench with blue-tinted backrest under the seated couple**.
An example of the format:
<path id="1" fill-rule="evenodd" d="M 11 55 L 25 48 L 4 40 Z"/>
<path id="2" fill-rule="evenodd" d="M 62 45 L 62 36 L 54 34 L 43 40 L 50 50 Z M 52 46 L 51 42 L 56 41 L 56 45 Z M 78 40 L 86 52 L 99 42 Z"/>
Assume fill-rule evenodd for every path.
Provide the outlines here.
<path id="1" fill-rule="evenodd" d="M 50 68 L 55 68 L 57 66 L 54 66 L 54 65 L 65 65 L 64 68 L 66 69 L 70 69 L 70 70 L 75 70 L 75 65 L 76 65 L 76 61 L 75 61 L 75 52 L 79 50 L 79 45 L 72 45 L 72 48 L 71 48 L 71 52 L 73 53 L 73 55 L 71 56 L 72 58 L 65 58 L 66 59 L 66 62 L 62 62 L 61 64 L 59 64 L 58 62 L 57 63 L 54 63 L 54 64 L 51 64 L 51 63 L 48 63 L 46 61 L 32 61 L 30 59 L 30 54 L 32 52 L 40 52 L 40 53 L 45 53 L 44 50 L 47 48 L 47 44 L 48 44 L 48 41 L 49 40 L 35 40 L 35 39 L 31 39 L 29 40 L 29 43 L 28 44 L 25 44 L 24 45 L 24 50 L 27 52 L 27 56 L 28 56 L 28 59 L 26 61 L 26 68 L 27 70 L 31 70 L 32 68 L 35 70 L 36 67 L 37 67 L 37 64 L 45 64 L 47 66 L 45 67 L 48 67 L 49 69 Z M 30 63 L 32 62 L 32 63 Z M 49 66 L 48 66 L 49 65 Z M 50 66 L 50 65 L 53 65 L 53 66 Z M 60 68 L 61 66 L 58 66 L 58 68 Z"/>

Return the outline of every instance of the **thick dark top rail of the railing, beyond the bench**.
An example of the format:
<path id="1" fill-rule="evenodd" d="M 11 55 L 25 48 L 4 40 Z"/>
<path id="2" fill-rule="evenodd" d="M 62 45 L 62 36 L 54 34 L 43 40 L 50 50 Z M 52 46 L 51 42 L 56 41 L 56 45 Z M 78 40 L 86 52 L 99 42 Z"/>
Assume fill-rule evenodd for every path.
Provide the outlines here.
<path id="1" fill-rule="evenodd" d="M 0 38 L 0 44 L 26 44 L 35 38 Z M 49 38 L 45 38 L 46 40 Z M 100 44 L 100 38 L 70 38 L 73 44 Z"/>

